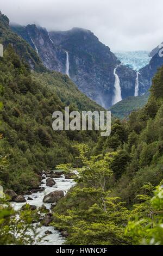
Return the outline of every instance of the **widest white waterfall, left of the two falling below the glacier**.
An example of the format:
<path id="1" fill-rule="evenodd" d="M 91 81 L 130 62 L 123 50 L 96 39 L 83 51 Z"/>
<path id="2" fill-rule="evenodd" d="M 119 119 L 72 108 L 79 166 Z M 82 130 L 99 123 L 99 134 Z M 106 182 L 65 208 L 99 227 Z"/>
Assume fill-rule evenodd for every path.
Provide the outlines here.
<path id="1" fill-rule="evenodd" d="M 122 100 L 120 78 L 116 74 L 117 68 L 118 66 L 116 66 L 116 68 L 114 69 L 115 82 L 114 82 L 114 97 L 112 99 L 112 105 L 115 105 L 117 102 Z"/>

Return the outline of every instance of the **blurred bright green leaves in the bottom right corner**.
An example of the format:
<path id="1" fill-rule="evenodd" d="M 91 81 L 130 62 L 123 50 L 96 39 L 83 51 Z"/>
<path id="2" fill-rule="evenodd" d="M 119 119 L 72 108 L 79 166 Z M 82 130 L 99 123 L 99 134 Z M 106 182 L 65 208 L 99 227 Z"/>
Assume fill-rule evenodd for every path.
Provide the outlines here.
<path id="1" fill-rule="evenodd" d="M 156 187 L 154 197 L 141 195 L 140 204 L 134 205 L 126 235 L 132 239 L 133 245 L 163 245 L 163 189 Z"/>

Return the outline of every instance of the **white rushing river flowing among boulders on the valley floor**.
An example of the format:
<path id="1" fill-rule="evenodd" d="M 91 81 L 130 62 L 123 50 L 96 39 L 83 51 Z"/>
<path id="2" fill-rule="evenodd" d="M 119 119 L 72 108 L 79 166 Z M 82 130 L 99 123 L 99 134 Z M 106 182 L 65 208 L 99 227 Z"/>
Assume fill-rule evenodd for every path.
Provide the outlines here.
<path id="1" fill-rule="evenodd" d="M 37 206 L 37 208 L 39 208 L 42 205 L 45 205 L 47 209 L 51 208 L 51 203 L 43 203 L 43 197 L 48 194 L 51 193 L 53 191 L 56 190 L 62 190 L 64 191 L 64 193 L 66 194 L 67 191 L 74 186 L 76 183 L 73 180 L 68 180 L 65 179 L 64 175 L 62 175 L 61 178 L 59 179 L 54 179 L 54 181 L 56 182 L 55 186 L 53 187 L 48 187 L 46 186 L 46 179 L 42 180 L 42 182 L 44 184 L 42 184 L 42 187 L 45 188 L 45 191 L 43 192 L 38 192 L 38 193 L 33 193 L 30 196 L 26 195 L 24 196 L 27 200 L 27 204 L 30 205 L 35 205 Z M 31 197 L 33 198 L 33 200 L 28 200 L 27 198 Z M 12 207 L 15 210 L 20 210 L 22 208 L 22 206 L 26 203 L 11 203 Z M 39 235 L 37 235 L 36 238 L 42 237 L 43 235 L 45 235 L 45 232 L 47 230 L 51 231 L 52 234 L 51 235 L 47 235 L 46 237 L 44 237 L 39 243 L 37 243 L 37 245 L 62 245 L 62 243 L 64 242 L 64 238 L 60 235 L 60 232 L 55 229 L 54 227 L 45 227 L 45 226 L 39 226 L 37 224 L 34 224 L 34 226 L 36 227 L 36 231 L 39 233 Z M 38 225 L 38 227 L 37 227 Z"/>

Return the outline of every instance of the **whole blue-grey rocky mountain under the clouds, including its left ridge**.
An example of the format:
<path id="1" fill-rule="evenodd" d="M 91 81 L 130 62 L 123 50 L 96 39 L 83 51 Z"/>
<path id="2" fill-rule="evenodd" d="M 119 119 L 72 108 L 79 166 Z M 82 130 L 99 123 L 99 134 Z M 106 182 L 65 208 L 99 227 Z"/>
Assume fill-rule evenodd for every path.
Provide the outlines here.
<path id="1" fill-rule="evenodd" d="M 12 25 L 11 29 L 29 42 L 48 69 L 69 75 L 80 91 L 101 106 L 108 108 L 114 101 L 114 71 L 118 65 L 116 74 L 120 79 L 122 99 L 134 95 L 136 71 L 120 65 L 110 48 L 91 31 L 73 28 L 48 33 L 35 25 Z"/>

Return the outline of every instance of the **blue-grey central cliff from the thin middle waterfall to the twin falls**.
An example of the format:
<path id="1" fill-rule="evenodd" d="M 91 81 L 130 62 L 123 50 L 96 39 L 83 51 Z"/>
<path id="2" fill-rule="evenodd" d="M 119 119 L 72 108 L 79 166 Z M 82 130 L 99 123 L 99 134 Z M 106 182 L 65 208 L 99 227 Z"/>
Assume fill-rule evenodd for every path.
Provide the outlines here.
<path id="1" fill-rule="evenodd" d="M 134 95 L 136 72 L 120 65 L 108 46 L 86 29 L 49 33 L 55 44 L 69 54 L 70 77 L 80 90 L 105 108 L 114 98 L 114 69 L 120 78 L 122 99 Z"/>

